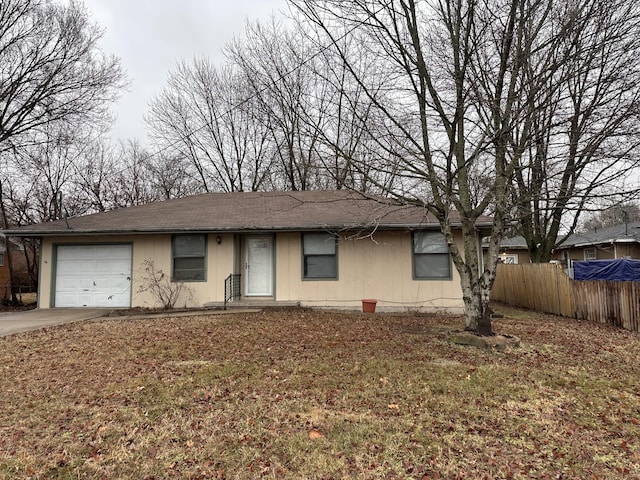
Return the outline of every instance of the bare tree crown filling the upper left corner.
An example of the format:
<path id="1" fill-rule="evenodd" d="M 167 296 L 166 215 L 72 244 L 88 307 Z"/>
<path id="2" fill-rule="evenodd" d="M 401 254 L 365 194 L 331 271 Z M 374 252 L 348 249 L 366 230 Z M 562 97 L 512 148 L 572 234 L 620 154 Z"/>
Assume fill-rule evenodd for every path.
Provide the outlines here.
<path id="1" fill-rule="evenodd" d="M 2 1 L 0 150 L 52 122 L 105 117 L 123 74 L 117 59 L 101 55 L 100 37 L 75 1 Z"/>

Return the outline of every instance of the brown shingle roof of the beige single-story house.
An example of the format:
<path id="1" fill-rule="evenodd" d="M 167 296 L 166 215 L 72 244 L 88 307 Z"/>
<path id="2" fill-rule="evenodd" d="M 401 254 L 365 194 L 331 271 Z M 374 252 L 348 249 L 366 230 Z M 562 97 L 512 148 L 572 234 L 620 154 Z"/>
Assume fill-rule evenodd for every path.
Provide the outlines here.
<path id="1" fill-rule="evenodd" d="M 452 214 L 453 224 L 459 224 Z M 482 217 L 479 226 L 491 224 Z M 347 190 L 209 193 L 28 225 L 18 236 L 438 227 L 424 208 Z"/>

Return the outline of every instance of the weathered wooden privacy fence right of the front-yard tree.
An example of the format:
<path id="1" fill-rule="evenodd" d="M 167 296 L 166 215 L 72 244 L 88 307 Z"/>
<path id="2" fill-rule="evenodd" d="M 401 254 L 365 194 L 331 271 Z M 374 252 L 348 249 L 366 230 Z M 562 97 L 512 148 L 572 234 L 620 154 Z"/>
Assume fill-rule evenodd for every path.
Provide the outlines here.
<path id="1" fill-rule="evenodd" d="M 640 282 L 577 281 L 559 265 L 498 265 L 491 299 L 640 331 Z"/>

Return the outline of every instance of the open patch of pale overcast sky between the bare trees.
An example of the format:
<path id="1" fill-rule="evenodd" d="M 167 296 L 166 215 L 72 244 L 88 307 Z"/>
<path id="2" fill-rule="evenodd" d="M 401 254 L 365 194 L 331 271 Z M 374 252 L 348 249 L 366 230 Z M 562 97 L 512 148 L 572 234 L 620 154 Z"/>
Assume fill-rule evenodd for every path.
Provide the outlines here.
<path id="1" fill-rule="evenodd" d="M 280 17 L 286 0 L 85 0 L 93 20 L 105 28 L 105 53 L 120 57 L 129 91 L 114 106 L 114 139 L 145 141 L 143 115 L 181 59 L 207 55 L 242 36 L 247 19 Z"/>

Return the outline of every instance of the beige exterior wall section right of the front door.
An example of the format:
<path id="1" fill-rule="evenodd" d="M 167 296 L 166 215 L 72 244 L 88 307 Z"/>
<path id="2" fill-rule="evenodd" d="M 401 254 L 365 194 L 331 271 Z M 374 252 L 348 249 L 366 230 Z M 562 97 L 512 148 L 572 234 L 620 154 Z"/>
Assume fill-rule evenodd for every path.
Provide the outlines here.
<path id="1" fill-rule="evenodd" d="M 458 243 L 462 248 L 461 238 Z M 460 278 L 414 280 L 410 232 L 377 232 L 370 238 L 338 242 L 338 279 L 304 280 L 300 233 L 276 237 L 276 300 L 303 306 L 360 308 L 362 299 L 379 310 L 463 309 Z"/>

